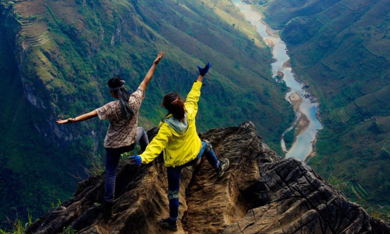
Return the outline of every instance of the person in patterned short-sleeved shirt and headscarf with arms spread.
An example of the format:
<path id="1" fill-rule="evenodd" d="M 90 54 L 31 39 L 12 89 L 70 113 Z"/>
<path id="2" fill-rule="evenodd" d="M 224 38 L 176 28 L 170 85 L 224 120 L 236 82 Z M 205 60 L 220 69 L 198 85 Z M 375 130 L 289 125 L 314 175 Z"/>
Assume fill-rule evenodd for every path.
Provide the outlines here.
<path id="1" fill-rule="evenodd" d="M 138 89 L 130 95 L 125 88 L 125 81 L 120 76 L 108 81 L 108 89 L 116 101 L 109 102 L 89 113 L 82 114 L 67 120 L 58 120 L 58 124 L 68 124 L 85 121 L 94 117 L 100 120 L 109 120 L 104 148 L 106 149 L 106 177 L 104 202 L 99 209 L 106 215 L 111 215 L 115 191 L 115 174 L 118 169 L 119 159 L 122 153 L 132 151 L 139 142 L 141 151 L 144 151 L 149 141 L 145 129 L 138 127 L 138 113 L 141 103 L 145 98 L 145 90 L 154 70 L 159 64 L 164 53 L 161 51 L 155 58 L 153 65 L 146 73 L 145 78 Z"/>

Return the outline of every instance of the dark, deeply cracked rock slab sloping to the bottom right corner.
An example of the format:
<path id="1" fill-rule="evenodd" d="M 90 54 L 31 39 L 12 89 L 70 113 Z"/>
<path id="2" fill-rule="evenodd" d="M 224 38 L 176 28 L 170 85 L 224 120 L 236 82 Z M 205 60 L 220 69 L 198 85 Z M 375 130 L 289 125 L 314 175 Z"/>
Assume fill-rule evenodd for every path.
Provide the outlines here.
<path id="1" fill-rule="evenodd" d="M 260 165 L 268 204 L 251 209 L 223 233 L 390 233 L 297 159 Z"/>

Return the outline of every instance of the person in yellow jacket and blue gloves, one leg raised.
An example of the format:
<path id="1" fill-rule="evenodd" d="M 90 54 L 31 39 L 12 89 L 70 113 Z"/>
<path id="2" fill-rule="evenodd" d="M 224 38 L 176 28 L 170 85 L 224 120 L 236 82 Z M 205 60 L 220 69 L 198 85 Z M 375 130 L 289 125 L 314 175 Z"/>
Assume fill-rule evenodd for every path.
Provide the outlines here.
<path id="1" fill-rule="evenodd" d="M 195 125 L 203 76 L 208 72 L 210 66 L 210 63 L 207 63 L 204 68 L 198 66 L 200 75 L 193 84 L 185 102 L 175 93 L 164 96 L 162 106 L 169 113 L 160 123 L 159 133 L 142 154 L 130 157 L 137 165 L 147 164 L 163 152 L 168 175 L 169 218 L 159 219 L 159 224 L 163 228 L 173 231 L 177 230 L 181 169 L 196 164 L 203 154 L 214 167 L 218 177 L 222 177 L 229 167 L 227 159 L 218 161 L 208 141 L 201 141 Z"/>

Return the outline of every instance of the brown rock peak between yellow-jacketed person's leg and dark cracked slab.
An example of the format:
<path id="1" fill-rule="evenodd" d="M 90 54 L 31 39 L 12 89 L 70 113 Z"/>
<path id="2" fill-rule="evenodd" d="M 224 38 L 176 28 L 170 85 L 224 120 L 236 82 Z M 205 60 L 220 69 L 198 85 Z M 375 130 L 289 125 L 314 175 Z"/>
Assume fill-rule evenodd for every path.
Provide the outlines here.
<path id="1" fill-rule="evenodd" d="M 218 158 L 229 159 L 230 168 L 222 179 L 217 179 L 211 166 L 202 160 L 187 188 L 184 223 L 189 233 L 219 233 L 260 202 L 254 192 L 259 180 L 258 165 L 280 158 L 263 149 L 262 139 L 251 122 L 212 129 L 202 138 L 211 142 Z"/>

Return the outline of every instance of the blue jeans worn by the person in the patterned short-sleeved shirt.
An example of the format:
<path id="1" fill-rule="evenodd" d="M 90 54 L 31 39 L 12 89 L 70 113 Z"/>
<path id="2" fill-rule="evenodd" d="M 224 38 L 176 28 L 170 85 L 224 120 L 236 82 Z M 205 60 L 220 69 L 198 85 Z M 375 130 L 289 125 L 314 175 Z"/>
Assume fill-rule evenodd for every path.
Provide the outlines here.
<path id="1" fill-rule="evenodd" d="M 121 154 L 132 151 L 137 143 L 141 146 L 141 151 L 144 151 L 146 146 L 149 144 L 144 128 L 137 128 L 137 139 L 133 144 L 120 148 L 106 148 L 106 179 L 104 184 L 105 201 L 112 202 L 114 200 L 116 169 L 118 169 Z"/>

